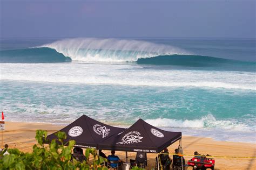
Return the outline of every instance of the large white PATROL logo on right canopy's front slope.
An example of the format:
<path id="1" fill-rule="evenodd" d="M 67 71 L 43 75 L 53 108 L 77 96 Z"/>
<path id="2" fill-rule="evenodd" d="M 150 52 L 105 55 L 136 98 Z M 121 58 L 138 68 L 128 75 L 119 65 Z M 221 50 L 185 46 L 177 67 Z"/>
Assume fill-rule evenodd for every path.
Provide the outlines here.
<path id="1" fill-rule="evenodd" d="M 131 131 L 126 133 L 125 136 L 122 138 L 122 141 L 118 142 L 117 144 L 133 144 L 142 142 L 143 137 L 140 136 L 140 133 L 137 131 Z"/>

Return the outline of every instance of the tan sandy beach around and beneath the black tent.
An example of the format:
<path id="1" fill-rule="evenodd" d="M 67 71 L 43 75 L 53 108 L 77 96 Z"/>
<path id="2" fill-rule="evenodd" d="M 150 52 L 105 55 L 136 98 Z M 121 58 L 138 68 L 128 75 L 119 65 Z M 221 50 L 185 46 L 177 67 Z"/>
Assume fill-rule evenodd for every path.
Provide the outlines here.
<path id="1" fill-rule="evenodd" d="M 35 132 L 37 129 L 47 130 L 49 134 L 60 130 L 63 126 L 47 123 L 20 123 L 5 122 L 3 133 L 4 144 L 9 148 L 18 148 L 23 152 L 31 152 L 32 145 L 36 143 Z M 225 158 L 225 157 L 255 157 L 256 145 L 250 143 L 234 143 L 229 141 L 215 141 L 211 138 L 183 136 L 182 145 L 185 155 L 191 155 L 194 151 L 200 154 L 210 154 L 215 156 L 215 169 L 255 169 L 256 159 L 253 158 Z M 169 147 L 170 153 L 178 146 L 175 143 Z M 104 151 L 106 155 L 110 151 Z M 116 152 L 122 160 L 125 160 L 125 152 Z M 135 153 L 128 153 L 129 160 L 134 159 Z M 185 160 L 190 160 L 192 156 L 185 156 Z M 147 154 L 149 162 L 148 168 L 154 168 L 156 154 Z M 192 168 L 188 168 L 192 169 Z"/>

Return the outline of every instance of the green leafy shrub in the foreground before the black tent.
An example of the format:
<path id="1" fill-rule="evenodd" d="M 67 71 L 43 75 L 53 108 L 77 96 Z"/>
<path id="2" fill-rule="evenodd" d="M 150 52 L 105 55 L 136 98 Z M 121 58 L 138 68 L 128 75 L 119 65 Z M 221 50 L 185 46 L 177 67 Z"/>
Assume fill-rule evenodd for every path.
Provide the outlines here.
<path id="1" fill-rule="evenodd" d="M 8 149 L 10 154 L 3 156 L 3 153 L 6 151 L 4 150 L 0 154 L 0 157 L 2 158 L 0 159 L 0 169 L 107 169 L 103 164 L 103 162 L 107 160 L 100 157 L 95 149 L 86 149 L 86 161 L 79 162 L 76 159 L 71 158 L 71 151 L 76 144 L 76 141 L 70 140 L 67 144 L 63 144 L 63 139 L 66 139 L 65 132 L 57 132 L 55 135 L 58 138 L 57 141 L 53 139 L 49 146 L 44 146 L 43 141 L 46 141 L 47 131 L 37 130 L 37 144 L 33 145 L 32 153 L 24 153 L 17 148 L 10 148 Z M 93 158 L 92 161 L 89 160 L 90 155 Z M 103 166 L 100 164 L 103 164 Z M 140 168 L 134 167 L 133 169 Z"/>

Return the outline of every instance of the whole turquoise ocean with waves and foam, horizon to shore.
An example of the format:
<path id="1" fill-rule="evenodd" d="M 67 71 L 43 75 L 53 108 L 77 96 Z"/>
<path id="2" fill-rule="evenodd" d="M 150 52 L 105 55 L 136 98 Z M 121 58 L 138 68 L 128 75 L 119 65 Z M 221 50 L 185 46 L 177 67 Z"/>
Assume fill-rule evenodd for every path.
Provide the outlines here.
<path id="1" fill-rule="evenodd" d="M 255 39 L 0 40 L 5 121 L 117 126 L 256 142 Z"/>

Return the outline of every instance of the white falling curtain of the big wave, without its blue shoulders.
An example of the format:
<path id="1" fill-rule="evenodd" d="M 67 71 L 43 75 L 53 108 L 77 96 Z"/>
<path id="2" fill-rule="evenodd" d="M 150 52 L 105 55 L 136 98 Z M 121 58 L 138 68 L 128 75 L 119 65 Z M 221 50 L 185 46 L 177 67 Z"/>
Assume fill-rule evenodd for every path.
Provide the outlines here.
<path id="1" fill-rule="evenodd" d="M 132 62 L 159 55 L 188 54 L 183 49 L 170 45 L 113 38 L 64 39 L 39 47 L 52 48 L 73 61 L 84 62 Z"/>

